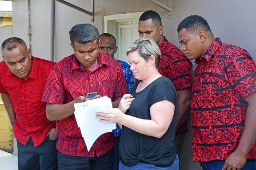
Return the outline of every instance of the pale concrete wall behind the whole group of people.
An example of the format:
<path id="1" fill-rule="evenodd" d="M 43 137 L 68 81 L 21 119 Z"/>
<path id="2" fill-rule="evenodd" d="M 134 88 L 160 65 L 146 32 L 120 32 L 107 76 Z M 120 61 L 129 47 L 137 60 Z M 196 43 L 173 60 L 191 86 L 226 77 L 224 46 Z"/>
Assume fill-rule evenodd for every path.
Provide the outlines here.
<path id="1" fill-rule="evenodd" d="M 88 11 L 92 11 L 91 0 L 67 0 Z M 159 0 L 170 4 L 170 0 Z M 157 7 L 148 0 L 95 0 L 94 23 L 91 16 L 76 11 L 59 2 L 55 2 L 55 51 L 52 56 L 52 0 L 30 0 L 32 30 L 31 41 L 28 35 L 29 13 L 28 0 L 13 1 L 13 35 L 19 36 L 25 42 L 32 44 L 32 54 L 40 58 L 55 58 L 58 62 L 73 53 L 68 31 L 78 23 L 92 23 L 99 32 L 104 31 L 104 15 L 114 15 L 132 12 L 154 10 L 163 21 L 164 35 L 170 42 L 180 47 L 177 38 L 177 26 L 188 15 L 203 16 L 209 23 L 213 34 L 223 42 L 232 43 L 248 50 L 256 59 L 254 39 L 256 37 L 256 1 L 255 0 L 173 0 L 173 16 L 168 18 L 168 12 Z M 189 129 L 184 147 L 182 148 L 180 169 L 198 170 L 198 163 L 192 162 L 192 132 Z"/>

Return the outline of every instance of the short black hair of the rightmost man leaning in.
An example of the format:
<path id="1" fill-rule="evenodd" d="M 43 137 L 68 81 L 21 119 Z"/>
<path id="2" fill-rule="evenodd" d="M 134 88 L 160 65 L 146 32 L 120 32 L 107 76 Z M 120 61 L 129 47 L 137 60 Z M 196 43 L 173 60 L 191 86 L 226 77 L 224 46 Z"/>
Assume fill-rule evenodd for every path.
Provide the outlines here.
<path id="1" fill-rule="evenodd" d="M 212 33 L 207 21 L 199 15 L 190 15 L 183 19 L 180 22 L 177 31 L 180 32 L 182 28 L 185 28 L 186 31 L 195 31 L 198 28 L 204 28 L 205 31 L 210 31 Z"/>

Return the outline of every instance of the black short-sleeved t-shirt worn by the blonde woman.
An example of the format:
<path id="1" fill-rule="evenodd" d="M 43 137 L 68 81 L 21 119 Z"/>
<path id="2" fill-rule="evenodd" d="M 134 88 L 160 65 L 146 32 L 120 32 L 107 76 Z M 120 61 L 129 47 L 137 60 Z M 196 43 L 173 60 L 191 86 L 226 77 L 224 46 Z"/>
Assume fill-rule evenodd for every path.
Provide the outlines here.
<path id="1" fill-rule="evenodd" d="M 175 135 L 177 94 L 167 77 L 159 77 L 145 89 L 136 93 L 138 84 L 130 91 L 135 99 L 127 115 L 151 120 L 150 107 L 162 100 L 168 100 L 175 105 L 175 112 L 168 130 L 161 138 L 143 135 L 123 125 L 120 139 L 120 160 L 125 166 L 135 166 L 138 162 L 153 164 L 160 167 L 171 166 L 176 158 Z"/>

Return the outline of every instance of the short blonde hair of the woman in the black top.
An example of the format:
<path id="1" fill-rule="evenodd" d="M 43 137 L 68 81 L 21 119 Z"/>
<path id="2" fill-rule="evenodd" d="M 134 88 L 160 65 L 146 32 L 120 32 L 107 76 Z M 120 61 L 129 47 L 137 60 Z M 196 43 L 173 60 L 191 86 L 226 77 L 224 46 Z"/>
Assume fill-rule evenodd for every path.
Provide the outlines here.
<path id="1" fill-rule="evenodd" d="M 146 61 L 148 61 L 148 58 L 150 58 L 151 55 L 154 55 L 156 58 L 155 66 L 157 69 L 159 68 L 161 51 L 153 39 L 137 39 L 135 42 L 132 42 L 132 44 L 126 48 L 125 54 L 128 55 L 133 51 L 138 51 L 140 56 L 144 58 L 144 60 Z"/>

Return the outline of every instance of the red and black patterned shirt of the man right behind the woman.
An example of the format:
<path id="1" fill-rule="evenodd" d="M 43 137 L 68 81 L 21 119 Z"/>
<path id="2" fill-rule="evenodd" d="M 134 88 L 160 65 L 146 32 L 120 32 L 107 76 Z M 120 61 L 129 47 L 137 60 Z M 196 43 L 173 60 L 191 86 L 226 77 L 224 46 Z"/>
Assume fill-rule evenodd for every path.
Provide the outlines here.
<path id="1" fill-rule="evenodd" d="M 160 43 L 159 48 L 162 53 L 158 69 L 159 73 L 172 81 L 176 91 L 192 87 L 192 63 L 184 53 L 169 43 L 165 37 L 164 41 Z M 188 127 L 185 121 L 176 133 L 186 130 L 188 130 Z"/>

